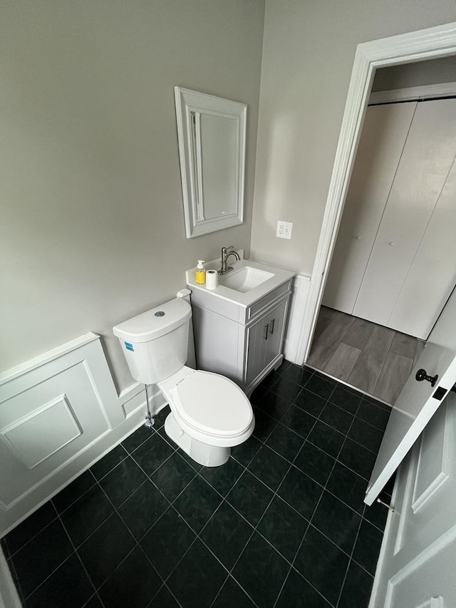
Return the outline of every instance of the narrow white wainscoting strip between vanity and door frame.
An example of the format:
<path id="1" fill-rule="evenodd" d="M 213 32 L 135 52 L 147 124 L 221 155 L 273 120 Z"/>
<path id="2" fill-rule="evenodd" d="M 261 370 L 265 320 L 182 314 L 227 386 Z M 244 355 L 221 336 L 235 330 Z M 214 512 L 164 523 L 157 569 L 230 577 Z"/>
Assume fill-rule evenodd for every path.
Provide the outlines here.
<path id="1" fill-rule="evenodd" d="M 284 357 L 291 363 L 301 364 L 298 358 L 299 339 L 310 287 L 311 277 L 306 274 L 296 274 L 293 279 L 284 340 Z"/>

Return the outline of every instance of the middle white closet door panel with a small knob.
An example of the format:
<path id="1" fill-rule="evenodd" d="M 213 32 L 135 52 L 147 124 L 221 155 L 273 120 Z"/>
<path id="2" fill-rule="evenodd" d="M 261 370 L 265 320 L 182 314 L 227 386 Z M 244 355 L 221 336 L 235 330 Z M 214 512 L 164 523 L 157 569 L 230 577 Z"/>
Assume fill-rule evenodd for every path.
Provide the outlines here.
<path id="1" fill-rule="evenodd" d="M 455 153 L 456 100 L 419 103 L 354 315 L 388 325 Z"/>

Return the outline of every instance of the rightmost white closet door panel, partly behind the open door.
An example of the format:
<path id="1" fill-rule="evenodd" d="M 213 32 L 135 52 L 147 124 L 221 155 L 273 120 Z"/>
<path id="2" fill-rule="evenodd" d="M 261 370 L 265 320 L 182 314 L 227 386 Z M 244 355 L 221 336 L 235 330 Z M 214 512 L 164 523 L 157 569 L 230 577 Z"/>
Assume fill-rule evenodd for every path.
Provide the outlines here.
<path id="1" fill-rule="evenodd" d="M 453 162 L 398 301 L 388 319 L 388 326 L 404 334 L 427 339 L 455 284 L 456 162 Z"/>

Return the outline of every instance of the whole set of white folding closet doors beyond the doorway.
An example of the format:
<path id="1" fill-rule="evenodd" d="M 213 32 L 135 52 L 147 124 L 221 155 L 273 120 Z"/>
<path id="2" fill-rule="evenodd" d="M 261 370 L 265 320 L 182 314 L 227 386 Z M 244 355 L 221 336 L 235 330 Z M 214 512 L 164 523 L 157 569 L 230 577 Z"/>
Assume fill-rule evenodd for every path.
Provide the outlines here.
<path id="1" fill-rule="evenodd" d="M 325 306 L 427 339 L 456 283 L 455 155 L 456 99 L 368 108 Z"/>

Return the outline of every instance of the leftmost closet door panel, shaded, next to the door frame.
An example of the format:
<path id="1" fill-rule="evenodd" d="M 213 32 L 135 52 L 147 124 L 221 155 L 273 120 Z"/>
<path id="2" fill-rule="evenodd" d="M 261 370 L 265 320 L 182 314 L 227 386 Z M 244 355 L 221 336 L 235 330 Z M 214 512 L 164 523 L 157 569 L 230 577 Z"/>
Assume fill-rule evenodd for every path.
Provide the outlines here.
<path id="1" fill-rule="evenodd" d="M 417 103 L 371 105 L 364 120 L 323 304 L 351 314 Z"/>

